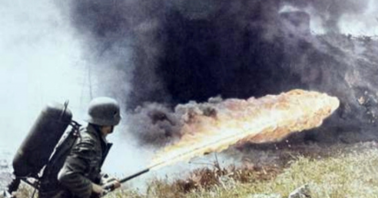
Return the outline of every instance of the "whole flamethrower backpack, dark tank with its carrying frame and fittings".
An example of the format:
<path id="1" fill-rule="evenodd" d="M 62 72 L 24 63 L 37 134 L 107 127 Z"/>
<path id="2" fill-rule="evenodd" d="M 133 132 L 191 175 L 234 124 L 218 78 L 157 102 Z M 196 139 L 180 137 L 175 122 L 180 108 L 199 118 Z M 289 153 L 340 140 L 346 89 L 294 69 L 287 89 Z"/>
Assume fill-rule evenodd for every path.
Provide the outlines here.
<path id="1" fill-rule="evenodd" d="M 58 172 L 80 137 L 81 125 L 72 120 L 67 106 L 68 101 L 64 105 L 48 104 L 39 114 L 13 158 L 14 178 L 4 191 L 5 197 L 12 197 L 10 194 L 18 189 L 20 181 L 39 191 L 58 185 Z M 65 133 L 68 126 L 71 129 Z"/>

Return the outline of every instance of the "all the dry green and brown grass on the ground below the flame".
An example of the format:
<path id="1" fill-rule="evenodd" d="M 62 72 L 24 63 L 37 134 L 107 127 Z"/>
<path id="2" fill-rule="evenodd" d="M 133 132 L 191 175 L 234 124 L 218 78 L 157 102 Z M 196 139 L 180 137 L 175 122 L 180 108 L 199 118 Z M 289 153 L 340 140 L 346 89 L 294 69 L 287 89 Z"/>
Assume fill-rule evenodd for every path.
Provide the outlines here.
<path id="1" fill-rule="evenodd" d="M 248 198 L 251 194 L 280 194 L 308 184 L 313 198 L 378 197 L 378 146 L 375 142 L 333 146 L 322 155 L 294 155 L 284 166 L 197 169 L 186 179 L 155 179 L 147 191 L 116 190 L 106 197 Z M 306 153 L 306 152 L 300 152 Z M 26 194 L 26 193 L 25 193 Z"/>

